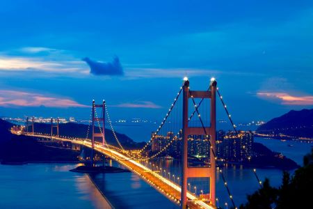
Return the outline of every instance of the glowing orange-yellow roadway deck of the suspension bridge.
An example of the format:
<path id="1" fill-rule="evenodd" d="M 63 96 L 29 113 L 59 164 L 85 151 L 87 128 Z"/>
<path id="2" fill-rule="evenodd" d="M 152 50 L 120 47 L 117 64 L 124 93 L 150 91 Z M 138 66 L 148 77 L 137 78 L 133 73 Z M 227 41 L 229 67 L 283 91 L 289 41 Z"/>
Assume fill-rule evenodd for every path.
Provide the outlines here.
<path id="1" fill-rule="evenodd" d="M 45 138 L 45 139 L 51 139 L 51 136 L 49 135 L 42 135 L 42 134 L 26 134 L 26 135 L 29 137 L 40 137 L 40 138 Z M 79 138 L 65 139 L 63 137 L 52 137 L 52 139 L 58 140 L 58 141 L 70 141 L 73 144 L 79 144 L 79 145 L 91 148 L 90 139 L 87 139 L 87 140 L 79 139 Z M 161 194 L 163 194 L 168 199 L 170 199 L 170 201 L 179 205 L 181 187 L 177 185 L 176 183 L 173 183 L 167 178 L 163 178 L 163 176 L 160 176 L 158 173 L 156 173 L 155 171 L 152 171 L 150 168 L 143 166 L 143 164 L 139 163 L 138 161 L 131 160 L 131 157 L 127 157 L 126 155 L 116 150 L 113 150 L 111 148 L 103 147 L 102 144 L 98 144 L 98 143 L 95 144 L 95 150 L 97 150 L 99 153 L 106 155 L 107 157 L 110 157 L 116 162 L 122 164 L 123 166 L 127 167 L 129 171 L 136 173 L 143 180 L 145 180 L 145 182 L 147 182 L 149 185 L 157 189 Z M 187 193 L 187 198 L 188 198 L 188 202 L 187 202 L 188 208 L 210 208 L 210 209 L 216 208 L 214 206 L 211 206 L 207 202 L 204 202 L 201 199 L 198 199 L 191 192 Z"/>

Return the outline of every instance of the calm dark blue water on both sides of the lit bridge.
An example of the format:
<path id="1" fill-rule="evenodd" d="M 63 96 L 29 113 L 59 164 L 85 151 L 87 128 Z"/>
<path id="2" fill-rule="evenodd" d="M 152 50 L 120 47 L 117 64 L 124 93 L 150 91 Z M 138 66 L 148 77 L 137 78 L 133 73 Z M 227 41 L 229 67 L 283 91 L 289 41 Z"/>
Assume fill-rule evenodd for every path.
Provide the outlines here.
<path id="1" fill-rule="evenodd" d="M 298 164 L 302 164 L 303 155 L 310 152 L 312 145 L 262 138 L 255 141 L 283 153 Z M 163 167 L 175 178 L 179 175 L 180 162 L 177 160 L 159 160 L 154 164 Z M 0 208 L 105 208 L 106 201 L 90 183 L 88 176 L 68 171 L 74 167 L 77 164 L 0 165 Z M 259 187 L 251 169 L 228 167 L 223 169 L 223 173 L 237 206 L 246 201 L 246 194 Z M 274 186 L 281 183 L 280 170 L 257 169 L 257 173 L 262 180 L 268 177 Z M 133 173 L 101 173 L 91 178 L 115 208 L 147 208 L 148 204 L 149 208 L 177 208 Z M 201 189 L 204 193 L 209 192 L 205 179 L 191 179 L 189 183 L 192 192 L 195 192 L 195 186 L 197 194 Z M 230 204 L 220 176 L 217 176 L 216 194 L 220 204 Z"/>

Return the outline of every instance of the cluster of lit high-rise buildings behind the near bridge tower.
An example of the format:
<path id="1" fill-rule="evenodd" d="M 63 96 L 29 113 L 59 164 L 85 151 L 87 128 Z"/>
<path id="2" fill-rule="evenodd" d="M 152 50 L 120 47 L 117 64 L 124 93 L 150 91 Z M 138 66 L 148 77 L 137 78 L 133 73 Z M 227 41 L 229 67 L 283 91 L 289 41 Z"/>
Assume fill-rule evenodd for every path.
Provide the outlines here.
<path id="1" fill-rule="evenodd" d="M 251 157 L 252 132 L 239 131 L 236 133 L 219 130 L 216 134 L 216 155 L 218 160 L 244 162 Z M 178 134 L 176 137 L 172 132 L 168 132 L 166 135 L 157 134 L 152 139 L 152 153 L 157 153 L 170 144 L 170 147 L 161 156 L 179 157 L 181 154 L 181 141 L 181 134 Z M 209 139 L 204 135 L 188 137 L 188 153 L 191 158 L 209 158 L 209 147 Z"/>

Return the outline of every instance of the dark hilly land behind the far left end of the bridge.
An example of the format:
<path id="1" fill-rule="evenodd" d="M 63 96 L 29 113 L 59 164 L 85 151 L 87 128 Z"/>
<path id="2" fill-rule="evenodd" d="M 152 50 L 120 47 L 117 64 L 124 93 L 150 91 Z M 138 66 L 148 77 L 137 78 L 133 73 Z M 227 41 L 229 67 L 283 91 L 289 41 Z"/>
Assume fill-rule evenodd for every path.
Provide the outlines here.
<path id="1" fill-rule="evenodd" d="M 60 162 L 60 161 L 77 161 L 79 151 L 63 149 L 58 147 L 45 146 L 33 137 L 26 137 L 24 135 L 15 135 L 10 133 L 10 128 L 13 123 L 3 121 L 0 119 L 0 160 L 2 162 L 31 162 L 31 161 L 47 161 L 47 162 Z M 51 133 L 51 125 L 47 123 L 35 123 L 35 132 Z M 77 123 L 61 123 L 59 126 L 59 133 L 67 137 L 80 137 L 86 138 L 88 125 Z M 54 130 L 55 131 L 55 130 Z M 114 146 L 118 146 L 113 132 L 106 131 L 106 141 Z M 91 127 L 89 130 L 88 138 L 91 138 Z M 96 129 L 99 132 L 99 128 Z M 136 143 L 125 134 L 115 133 L 120 143 L 125 148 L 142 148 L 143 143 Z M 97 139 L 97 141 L 101 141 Z"/>

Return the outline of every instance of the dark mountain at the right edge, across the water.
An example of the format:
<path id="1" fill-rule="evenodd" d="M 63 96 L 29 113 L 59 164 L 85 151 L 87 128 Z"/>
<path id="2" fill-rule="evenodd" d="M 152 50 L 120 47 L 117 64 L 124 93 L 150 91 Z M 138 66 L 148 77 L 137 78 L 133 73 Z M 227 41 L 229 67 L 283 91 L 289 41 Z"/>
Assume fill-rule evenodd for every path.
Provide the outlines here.
<path id="1" fill-rule="evenodd" d="M 287 135 L 313 138 L 313 109 L 291 110 L 259 126 L 257 133 L 273 134 L 276 137 Z"/>

